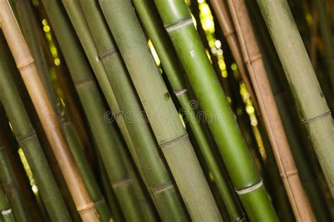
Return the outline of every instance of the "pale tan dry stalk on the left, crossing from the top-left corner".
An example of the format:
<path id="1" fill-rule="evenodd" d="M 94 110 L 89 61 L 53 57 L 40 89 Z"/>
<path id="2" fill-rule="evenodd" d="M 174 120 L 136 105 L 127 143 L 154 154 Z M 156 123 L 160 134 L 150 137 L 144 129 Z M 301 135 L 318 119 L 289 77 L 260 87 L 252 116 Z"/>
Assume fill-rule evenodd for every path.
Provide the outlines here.
<path id="1" fill-rule="evenodd" d="M 0 27 L 4 32 L 27 91 L 32 98 L 32 103 L 34 103 L 37 115 L 42 122 L 43 129 L 47 134 L 51 148 L 54 151 L 70 193 L 73 196 L 75 206 L 82 221 L 99 221 L 97 211 L 88 195 L 87 188 L 82 181 L 73 156 L 70 154 L 68 144 L 56 120 L 51 103 L 47 100 L 47 95 L 39 79 L 34 59 L 30 54 L 23 34 L 20 32 L 18 23 L 11 11 L 11 6 L 7 0 L 0 0 L 0 8 Z"/>

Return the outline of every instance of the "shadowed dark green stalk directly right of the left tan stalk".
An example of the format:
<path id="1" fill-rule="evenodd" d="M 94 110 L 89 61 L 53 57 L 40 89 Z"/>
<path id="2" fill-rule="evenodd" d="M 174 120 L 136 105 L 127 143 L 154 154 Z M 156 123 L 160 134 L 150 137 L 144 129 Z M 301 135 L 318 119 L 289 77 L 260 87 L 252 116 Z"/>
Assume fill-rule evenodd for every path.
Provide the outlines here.
<path id="1" fill-rule="evenodd" d="M 78 165 L 82 179 L 84 180 L 89 195 L 95 204 L 97 213 L 100 216 L 100 220 L 109 221 L 109 218 L 111 217 L 110 211 L 106 206 L 106 202 L 104 201 L 104 197 L 101 194 L 101 190 L 99 190 L 99 186 L 97 185 L 97 181 L 94 178 L 92 170 L 89 168 L 89 164 L 84 155 L 84 150 L 82 148 L 82 144 L 79 141 L 78 134 L 76 133 L 72 122 L 68 121 L 67 112 L 66 110 L 62 109 L 61 102 L 56 95 L 56 91 L 54 90 L 54 86 L 52 84 L 51 75 L 49 73 L 49 68 L 47 67 L 47 62 L 42 51 L 42 46 L 38 41 L 36 41 L 38 36 L 35 26 L 33 25 L 34 18 L 32 17 L 32 8 L 30 3 L 25 0 L 14 1 L 16 2 L 16 9 L 18 11 L 20 25 L 23 27 L 23 34 L 27 39 L 27 44 L 30 46 L 32 55 L 35 58 L 37 70 L 39 71 L 42 83 L 47 91 L 51 105 L 58 115 L 58 121 L 61 123 L 63 132 L 70 147 L 70 151 L 72 152 L 75 162 Z"/>

